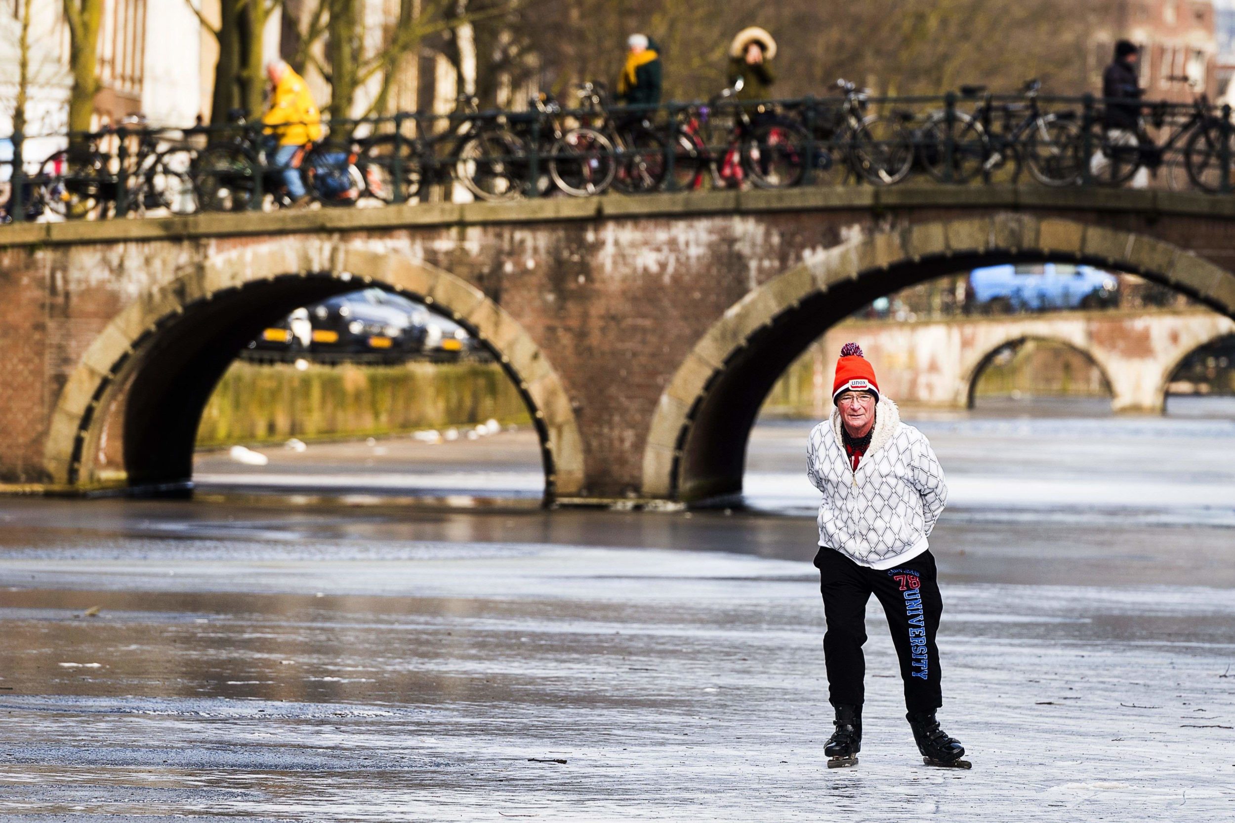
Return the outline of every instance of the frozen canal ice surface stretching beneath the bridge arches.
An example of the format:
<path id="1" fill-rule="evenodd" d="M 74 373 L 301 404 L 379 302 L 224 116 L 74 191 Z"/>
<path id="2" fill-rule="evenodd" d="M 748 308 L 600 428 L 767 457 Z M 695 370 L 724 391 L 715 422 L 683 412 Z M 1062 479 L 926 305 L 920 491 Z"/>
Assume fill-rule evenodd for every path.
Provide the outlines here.
<path id="1" fill-rule="evenodd" d="M 809 424 L 756 429 L 731 516 L 537 510 L 520 432 L 0 501 L 0 821 L 1235 819 L 1235 423 L 923 427 L 972 771 L 923 765 L 874 601 L 861 764 L 824 766 Z"/>

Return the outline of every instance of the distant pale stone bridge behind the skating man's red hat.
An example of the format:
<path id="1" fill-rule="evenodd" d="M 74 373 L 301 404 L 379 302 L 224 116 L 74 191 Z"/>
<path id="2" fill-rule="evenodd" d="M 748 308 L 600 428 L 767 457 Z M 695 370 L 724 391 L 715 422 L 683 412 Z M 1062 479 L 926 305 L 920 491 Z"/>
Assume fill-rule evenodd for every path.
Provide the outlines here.
<path id="1" fill-rule="evenodd" d="M 832 368 L 841 345 L 858 341 L 879 364 L 879 387 L 889 397 L 967 408 L 978 378 L 1000 349 L 1045 341 L 1076 349 L 1098 368 L 1114 411 L 1160 413 L 1183 359 L 1228 334 L 1235 334 L 1235 321 L 1205 308 L 847 321 L 825 336 L 823 365 Z"/>

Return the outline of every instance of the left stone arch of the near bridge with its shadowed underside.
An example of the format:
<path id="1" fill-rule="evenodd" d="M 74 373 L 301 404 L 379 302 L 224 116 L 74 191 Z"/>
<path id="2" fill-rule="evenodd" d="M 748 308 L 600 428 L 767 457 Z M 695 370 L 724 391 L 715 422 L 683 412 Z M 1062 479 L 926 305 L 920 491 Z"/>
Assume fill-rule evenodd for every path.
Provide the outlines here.
<path id="1" fill-rule="evenodd" d="M 95 337 L 57 400 L 44 448 L 53 482 L 183 487 L 210 392 L 243 344 L 296 306 L 366 285 L 425 302 L 468 329 L 519 387 L 541 440 L 546 497 L 577 494 L 583 449 L 552 364 L 505 310 L 453 274 L 390 252 L 249 246 L 185 267 Z M 109 420 L 122 424 L 122 478 L 96 471 Z"/>

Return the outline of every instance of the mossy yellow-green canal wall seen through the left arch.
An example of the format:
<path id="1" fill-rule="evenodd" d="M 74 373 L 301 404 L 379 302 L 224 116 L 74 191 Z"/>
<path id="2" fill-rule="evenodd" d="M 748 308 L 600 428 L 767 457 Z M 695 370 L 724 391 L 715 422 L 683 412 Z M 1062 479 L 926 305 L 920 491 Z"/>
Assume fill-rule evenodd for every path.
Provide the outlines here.
<path id="1" fill-rule="evenodd" d="M 494 363 L 259 365 L 237 360 L 215 387 L 198 448 L 380 437 L 484 422 L 527 423 L 527 407 Z"/>

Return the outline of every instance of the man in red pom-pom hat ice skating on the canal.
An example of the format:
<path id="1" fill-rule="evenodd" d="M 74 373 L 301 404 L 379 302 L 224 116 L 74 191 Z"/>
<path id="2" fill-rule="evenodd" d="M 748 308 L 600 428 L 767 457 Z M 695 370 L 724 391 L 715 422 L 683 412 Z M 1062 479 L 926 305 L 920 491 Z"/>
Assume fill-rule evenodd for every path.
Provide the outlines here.
<path id="1" fill-rule="evenodd" d="M 874 368 L 846 343 L 832 381 L 835 408 L 810 432 L 806 474 L 823 492 L 819 553 L 824 658 L 835 732 L 827 766 L 852 766 L 862 749 L 866 603 L 874 595 L 900 659 L 906 719 L 924 760 L 969 767 L 965 748 L 935 719 L 944 703 L 935 633 L 944 603 L 927 538 L 947 502 L 944 469 L 926 436 L 879 395 Z"/>

